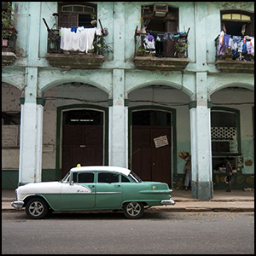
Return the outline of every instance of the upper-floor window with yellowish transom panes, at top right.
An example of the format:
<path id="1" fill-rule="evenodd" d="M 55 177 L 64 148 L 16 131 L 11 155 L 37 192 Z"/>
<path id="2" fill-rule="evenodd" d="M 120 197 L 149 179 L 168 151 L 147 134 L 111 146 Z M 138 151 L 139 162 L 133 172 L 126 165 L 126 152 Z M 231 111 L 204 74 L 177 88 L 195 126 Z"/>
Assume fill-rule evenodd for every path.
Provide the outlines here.
<path id="1" fill-rule="evenodd" d="M 221 12 L 221 30 L 232 36 L 254 36 L 254 15 L 238 10 Z"/>

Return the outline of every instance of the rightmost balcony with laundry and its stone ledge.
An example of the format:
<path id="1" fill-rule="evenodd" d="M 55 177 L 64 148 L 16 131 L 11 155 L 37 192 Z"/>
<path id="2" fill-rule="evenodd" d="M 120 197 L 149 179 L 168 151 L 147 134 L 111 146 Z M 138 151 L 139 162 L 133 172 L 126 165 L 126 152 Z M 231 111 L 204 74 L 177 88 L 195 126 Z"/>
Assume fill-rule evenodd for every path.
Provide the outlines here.
<path id="1" fill-rule="evenodd" d="M 241 37 L 241 41 L 246 37 Z M 238 40 L 239 41 L 239 40 Z M 226 73 L 254 73 L 254 53 L 245 48 L 242 49 L 241 41 L 239 48 L 234 48 L 234 44 L 220 49 L 219 36 L 215 38 L 216 60 L 215 66 L 218 70 Z M 249 40 L 245 40 L 247 44 Z"/>

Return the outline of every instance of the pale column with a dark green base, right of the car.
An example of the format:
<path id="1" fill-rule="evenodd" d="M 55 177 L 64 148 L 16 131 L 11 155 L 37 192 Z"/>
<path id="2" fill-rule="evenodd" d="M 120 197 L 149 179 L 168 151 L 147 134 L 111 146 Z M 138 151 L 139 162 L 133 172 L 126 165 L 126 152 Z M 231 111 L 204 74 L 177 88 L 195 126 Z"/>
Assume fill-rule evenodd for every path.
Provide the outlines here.
<path id="1" fill-rule="evenodd" d="M 201 90 L 206 80 L 206 73 L 196 74 L 197 101 L 189 102 L 192 196 L 200 201 L 210 201 L 213 196 L 210 109 Z"/>

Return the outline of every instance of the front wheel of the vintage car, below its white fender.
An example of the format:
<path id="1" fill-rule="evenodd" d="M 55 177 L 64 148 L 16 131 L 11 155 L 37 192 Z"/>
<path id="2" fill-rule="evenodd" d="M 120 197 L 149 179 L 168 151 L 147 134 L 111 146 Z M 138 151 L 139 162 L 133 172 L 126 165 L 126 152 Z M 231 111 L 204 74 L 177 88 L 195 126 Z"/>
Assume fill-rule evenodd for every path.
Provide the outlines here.
<path id="1" fill-rule="evenodd" d="M 41 198 L 32 198 L 26 203 L 26 215 L 29 218 L 44 218 L 48 209 L 48 204 Z"/>

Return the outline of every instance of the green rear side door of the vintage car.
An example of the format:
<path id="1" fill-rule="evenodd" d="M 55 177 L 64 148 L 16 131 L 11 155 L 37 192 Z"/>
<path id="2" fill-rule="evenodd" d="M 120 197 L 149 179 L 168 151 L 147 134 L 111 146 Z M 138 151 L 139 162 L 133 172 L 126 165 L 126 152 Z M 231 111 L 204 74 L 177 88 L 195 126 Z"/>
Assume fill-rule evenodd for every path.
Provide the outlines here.
<path id="1" fill-rule="evenodd" d="M 96 183 L 96 208 L 121 207 L 122 183 L 117 172 L 98 172 Z"/>

